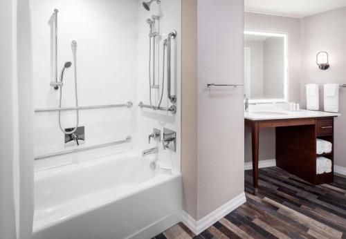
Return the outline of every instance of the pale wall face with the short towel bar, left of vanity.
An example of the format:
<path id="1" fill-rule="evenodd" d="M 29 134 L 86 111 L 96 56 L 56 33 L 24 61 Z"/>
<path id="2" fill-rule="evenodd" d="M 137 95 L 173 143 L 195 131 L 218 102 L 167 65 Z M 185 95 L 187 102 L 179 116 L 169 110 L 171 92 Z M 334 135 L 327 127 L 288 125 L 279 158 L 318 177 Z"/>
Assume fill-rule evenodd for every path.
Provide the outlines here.
<path id="1" fill-rule="evenodd" d="M 244 192 L 244 88 L 206 88 L 244 84 L 244 1 L 199 0 L 197 21 L 199 220 Z"/>

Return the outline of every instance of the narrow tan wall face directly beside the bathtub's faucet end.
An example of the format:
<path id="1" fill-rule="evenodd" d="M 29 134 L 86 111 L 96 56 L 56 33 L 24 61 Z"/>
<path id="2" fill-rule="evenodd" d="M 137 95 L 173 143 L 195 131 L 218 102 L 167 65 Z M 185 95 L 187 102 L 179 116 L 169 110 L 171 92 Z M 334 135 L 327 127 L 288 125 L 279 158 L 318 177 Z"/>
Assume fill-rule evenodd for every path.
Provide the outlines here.
<path id="1" fill-rule="evenodd" d="M 181 1 L 183 210 L 197 218 L 197 0 Z"/>

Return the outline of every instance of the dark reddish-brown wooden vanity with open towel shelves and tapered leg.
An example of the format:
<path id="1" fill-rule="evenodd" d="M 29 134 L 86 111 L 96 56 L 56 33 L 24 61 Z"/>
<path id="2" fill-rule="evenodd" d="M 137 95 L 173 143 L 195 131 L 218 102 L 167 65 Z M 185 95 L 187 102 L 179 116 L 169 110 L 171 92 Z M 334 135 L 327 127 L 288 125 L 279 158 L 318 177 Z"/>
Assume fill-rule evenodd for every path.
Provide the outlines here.
<path id="1" fill-rule="evenodd" d="M 316 139 L 327 140 L 334 148 L 334 117 L 298 117 L 290 119 L 255 120 L 245 118 L 251 127 L 253 153 L 253 187 L 258 189 L 258 157 L 260 128 L 275 128 L 276 166 L 297 175 L 311 184 L 325 184 L 334 179 L 334 149 L 317 155 Z M 316 174 L 316 158 L 327 157 L 332 162 L 331 173 Z"/>

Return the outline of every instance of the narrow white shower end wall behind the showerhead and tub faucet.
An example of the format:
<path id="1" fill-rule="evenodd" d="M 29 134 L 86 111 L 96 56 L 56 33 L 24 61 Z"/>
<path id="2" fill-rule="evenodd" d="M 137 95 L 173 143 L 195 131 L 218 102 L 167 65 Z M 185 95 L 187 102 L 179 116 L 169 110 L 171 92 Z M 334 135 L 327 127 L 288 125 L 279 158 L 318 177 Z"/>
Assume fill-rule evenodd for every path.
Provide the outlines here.
<path id="1" fill-rule="evenodd" d="M 143 101 L 149 104 L 149 80 L 148 80 L 148 58 L 149 58 L 149 26 L 145 22 L 152 15 L 158 15 L 160 19 L 160 37 L 157 43 L 158 62 L 160 62 L 159 70 L 156 69 L 156 75 L 161 84 L 162 66 L 163 66 L 163 41 L 167 35 L 176 30 L 178 35 L 172 41 L 172 92 L 177 95 L 176 106 L 178 112 L 175 115 L 165 112 L 154 112 L 150 109 L 138 108 L 138 146 L 140 149 L 149 149 L 154 146 L 159 147 L 158 158 L 167 168 L 180 172 L 180 128 L 181 128 L 181 0 L 161 1 L 160 5 L 152 3 L 152 9 L 147 12 L 142 6 L 142 2 L 138 3 L 138 102 Z M 175 83 L 175 84 L 174 84 Z M 165 79 L 165 90 L 163 91 L 163 107 L 170 106 L 167 101 L 167 78 Z M 161 95 L 159 90 L 152 90 L 152 102 L 158 104 Z M 137 102 L 137 103 L 138 103 Z M 163 127 L 170 128 L 177 133 L 176 152 L 166 150 L 163 151 L 161 142 L 152 140 L 148 144 L 148 135 L 152 133 L 153 128 L 161 129 Z"/>

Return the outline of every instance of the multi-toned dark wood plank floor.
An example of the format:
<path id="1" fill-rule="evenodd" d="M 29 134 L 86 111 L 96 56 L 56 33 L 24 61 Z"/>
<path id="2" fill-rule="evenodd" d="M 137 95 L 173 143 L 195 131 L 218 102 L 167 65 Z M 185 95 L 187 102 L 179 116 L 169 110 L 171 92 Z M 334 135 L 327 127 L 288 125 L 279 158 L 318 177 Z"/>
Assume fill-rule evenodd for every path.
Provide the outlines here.
<path id="1" fill-rule="evenodd" d="M 345 238 L 346 178 L 314 186 L 277 167 L 260 169 L 259 192 L 245 173 L 246 203 L 194 236 L 182 223 L 154 237 L 172 238 Z"/>

